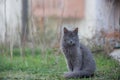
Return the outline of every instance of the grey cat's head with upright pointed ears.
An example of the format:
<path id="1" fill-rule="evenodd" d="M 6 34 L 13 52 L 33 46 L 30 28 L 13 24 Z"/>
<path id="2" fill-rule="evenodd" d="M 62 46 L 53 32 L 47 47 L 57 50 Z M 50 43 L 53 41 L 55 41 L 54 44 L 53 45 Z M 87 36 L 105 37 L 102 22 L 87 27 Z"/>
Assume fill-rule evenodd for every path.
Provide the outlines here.
<path id="1" fill-rule="evenodd" d="M 79 38 L 78 38 L 78 28 L 74 30 L 68 30 L 66 27 L 63 29 L 63 41 L 64 45 L 74 46 L 77 45 Z"/>

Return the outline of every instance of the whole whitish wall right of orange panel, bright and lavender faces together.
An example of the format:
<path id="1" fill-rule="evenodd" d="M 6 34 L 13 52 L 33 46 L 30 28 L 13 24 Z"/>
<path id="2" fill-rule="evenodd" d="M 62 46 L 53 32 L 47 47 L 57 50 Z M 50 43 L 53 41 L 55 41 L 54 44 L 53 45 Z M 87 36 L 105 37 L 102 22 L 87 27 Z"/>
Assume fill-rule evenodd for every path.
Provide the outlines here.
<path id="1" fill-rule="evenodd" d="M 114 0 L 86 0 L 85 18 L 80 21 L 80 35 L 92 38 L 100 30 L 119 28 L 120 6 Z"/>

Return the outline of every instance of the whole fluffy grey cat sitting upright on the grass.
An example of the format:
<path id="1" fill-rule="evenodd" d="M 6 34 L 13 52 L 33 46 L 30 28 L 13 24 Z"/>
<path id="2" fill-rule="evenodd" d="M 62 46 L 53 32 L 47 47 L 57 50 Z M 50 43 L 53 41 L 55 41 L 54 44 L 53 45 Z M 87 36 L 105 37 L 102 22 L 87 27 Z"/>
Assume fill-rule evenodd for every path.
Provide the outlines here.
<path id="1" fill-rule="evenodd" d="M 69 72 L 65 78 L 91 77 L 96 70 L 96 64 L 91 51 L 79 42 L 78 28 L 68 30 L 64 27 L 61 41 Z"/>

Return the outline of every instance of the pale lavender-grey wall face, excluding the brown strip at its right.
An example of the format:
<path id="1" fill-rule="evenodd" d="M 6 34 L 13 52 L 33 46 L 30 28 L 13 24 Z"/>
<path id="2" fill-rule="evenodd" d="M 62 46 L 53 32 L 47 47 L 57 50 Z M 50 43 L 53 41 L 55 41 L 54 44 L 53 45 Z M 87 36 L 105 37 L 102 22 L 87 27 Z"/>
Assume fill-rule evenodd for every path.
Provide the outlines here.
<path id="1" fill-rule="evenodd" d="M 96 27 L 106 31 L 114 28 L 114 6 L 108 0 L 96 0 Z M 114 0 L 113 0 L 114 1 Z"/>

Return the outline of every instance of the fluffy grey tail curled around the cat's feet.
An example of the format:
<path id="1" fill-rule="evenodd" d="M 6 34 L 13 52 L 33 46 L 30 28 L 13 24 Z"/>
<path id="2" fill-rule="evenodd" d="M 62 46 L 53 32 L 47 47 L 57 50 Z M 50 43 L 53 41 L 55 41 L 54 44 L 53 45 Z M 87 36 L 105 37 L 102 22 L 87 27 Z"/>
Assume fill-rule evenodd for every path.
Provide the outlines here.
<path id="1" fill-rule="evenodd" d="M 94 72 L 85 71 L 85 70 L 76 71 L 76 72 L 67 72 L 64 74 L 65 78 L 89 78 L 93 76 L 94 76 Z"/>

